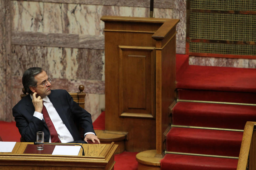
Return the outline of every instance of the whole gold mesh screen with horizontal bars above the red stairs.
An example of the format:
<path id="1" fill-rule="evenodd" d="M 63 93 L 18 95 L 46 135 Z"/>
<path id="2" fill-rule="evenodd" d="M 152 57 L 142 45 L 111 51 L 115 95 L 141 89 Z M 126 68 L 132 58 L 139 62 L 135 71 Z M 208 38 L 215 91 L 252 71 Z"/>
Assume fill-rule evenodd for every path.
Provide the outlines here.
<path id="1" fill-rule="evenodd" d="M 256 11 L 256 0 L 190 0 L 189 2 L 192 9 L 188 20 L 189 39 L 224 40 L 221 41 L 222 43 L 190 41 L 189 52 L 256 56 L 256 45 L 248 45 L 248 42 L 256 43 L 256 15 L 252 12 Z M 242 14 L 240 11 L 243 11 Z M 246 11 L 251 12 L 246 14 Z"/>

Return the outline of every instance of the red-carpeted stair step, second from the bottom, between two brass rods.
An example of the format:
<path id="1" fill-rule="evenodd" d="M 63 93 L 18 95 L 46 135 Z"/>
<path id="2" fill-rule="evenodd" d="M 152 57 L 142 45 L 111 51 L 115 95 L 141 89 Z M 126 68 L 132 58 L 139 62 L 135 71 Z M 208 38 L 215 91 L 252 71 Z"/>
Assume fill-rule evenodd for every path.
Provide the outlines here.
<path id="1" fill-rule="evenodd" d="M 171 128 L 166 150 L 193 154 L 239 156 L 243 132 Z"/>

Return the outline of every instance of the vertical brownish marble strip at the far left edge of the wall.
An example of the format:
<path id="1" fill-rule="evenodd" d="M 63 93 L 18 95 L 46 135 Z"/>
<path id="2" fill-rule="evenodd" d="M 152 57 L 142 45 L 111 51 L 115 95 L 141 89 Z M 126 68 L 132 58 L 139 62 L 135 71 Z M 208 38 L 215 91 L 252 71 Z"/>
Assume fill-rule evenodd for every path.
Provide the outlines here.
<path id="1" fill-rule="evenodd" d="M 11 109 L 10 85 L 12 82 L 11 65 L 11 10 L 10 1 L 0 0 L 0 120 L 11 121 L 12 115 L 9 114 Z"/>

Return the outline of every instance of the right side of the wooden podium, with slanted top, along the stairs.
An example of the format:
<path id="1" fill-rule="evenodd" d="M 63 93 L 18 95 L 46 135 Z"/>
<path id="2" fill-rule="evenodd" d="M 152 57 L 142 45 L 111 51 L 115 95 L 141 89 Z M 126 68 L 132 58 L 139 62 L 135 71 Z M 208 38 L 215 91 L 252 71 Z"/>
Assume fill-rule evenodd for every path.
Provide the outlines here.
<path id="1" fill-rule="evenodd" d="M 156 156 L 163 156 L 165 132 L 170 129 L 169 107 L 175 102 L 176 24 L 167 20 L 153 34 L 156 40 Z"/>

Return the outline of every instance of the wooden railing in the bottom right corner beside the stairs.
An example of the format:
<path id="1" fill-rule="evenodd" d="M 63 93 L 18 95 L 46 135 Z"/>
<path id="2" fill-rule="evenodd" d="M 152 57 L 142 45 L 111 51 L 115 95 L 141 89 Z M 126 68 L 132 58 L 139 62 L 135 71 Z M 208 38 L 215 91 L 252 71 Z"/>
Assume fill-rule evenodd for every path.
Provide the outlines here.
<path id="1" fill-rule="evenodd" d="M 246 122 L 243 132 L 237 170 L 256 169 L 256 122 Z"/>

